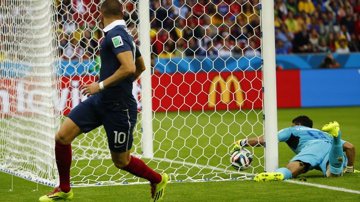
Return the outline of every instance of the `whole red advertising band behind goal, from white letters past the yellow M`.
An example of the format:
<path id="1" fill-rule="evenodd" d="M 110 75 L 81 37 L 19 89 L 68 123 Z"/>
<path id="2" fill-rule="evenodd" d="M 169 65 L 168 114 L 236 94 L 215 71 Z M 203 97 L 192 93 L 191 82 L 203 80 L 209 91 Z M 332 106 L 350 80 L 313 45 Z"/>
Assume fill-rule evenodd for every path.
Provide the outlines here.
<path id="1" fill-rule="evenodd" d="M 152 110 L 227 110 L 262 108 L 262 72 L 200 72 L 152 75 Z M 96 81 L 95 76 L 73 76 L 61 78 L 61 93 L 54 93 L 53 99 L 64 115 L 80 101 L 86 99 L 80 94 L 84 83 Z M 276 72 L 277 107 L 301 107 L 299 70 Z M 41 102 L 36 85 L 28 85 L 26 79 L 0 80 L 0 116 L 11 113 L 36 111 Z M 133 85 L 133 94 L 139 100 L 140 88 Z M 138 109 L 140 109 L 138 102 Z"/>

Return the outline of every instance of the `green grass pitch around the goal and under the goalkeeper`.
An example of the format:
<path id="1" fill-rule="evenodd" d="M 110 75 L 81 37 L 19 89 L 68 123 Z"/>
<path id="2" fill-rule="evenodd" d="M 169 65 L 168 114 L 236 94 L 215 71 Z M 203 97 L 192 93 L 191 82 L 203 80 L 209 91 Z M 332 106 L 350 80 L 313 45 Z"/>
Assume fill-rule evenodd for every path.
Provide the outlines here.
<path id="1" fill-rule="evenodd" d="M 338 121 L 342 131 L 342 139 L 351 142 L 357 149 L 355 168 L 360 170 L 360 133 L 358 127 L 360 126 L 360 107 L 341 107 L 341 108 L 304 108 L 304 109 L 279 109 L 278 111 L 278 129 L 288 127 L 291 124 L 291 120 L 298 115 L 307 115 L 314 122 L 314 128 L 320 128 L 322 124 L 325 124 L 329 121 Z M 196 112 L 195 112 L 196 113 Z M 167 116 L 171 117 L 173 114 L 167 113 Z M 186 117 L 185 114 L 182 114 L 183 117 Z M 161 120 L 161 113 L 155 115 Z M 239 116 L 242 116 L 239 114 Z M 220 119 L 223 123 L 230 125 L 231 120 L 226 119 L 226 114 L 218 115 L 212 114 L 208 117 L 211 119 L 211 123 L 219 123 Z M 231 117 L 231 116 L 230 116 Z M 233 116 L 232 116 L 233 117 Z M 256 119 L 258 115 L 256 112 L 248 117 L 249 119 Z M 181 126 L 186 125 L 187 127 L 181 128 L 181 130 L 175 130 L 173 128 L 168 128 L 168 133 L 174 133 L 181 131 L 180 137 L 183 144 L 179 144 L 178 147 L 191 145 L 196 138 L 201 142 L 209 141 L 207 137 L 188 137 L 184 134 L 196 134 L 191 130 L 209 130 L 211 131 L 214 127 L 209 125 L 206 126 L 206 121 L 201 123 L 198 121 L 199 127 L 191 125 L 195 117 L 187 117 L 189 119 L 183 119 L 181 117 L 173 118 L 173 120 L 163 120 L 161 126 L 162 129 L 166 128 L 166 123 L 173 123 L 173 126 L 181 128 Z M 154 122 L 154 128 L 160 127 L 160 122 Z M 225 145 L 230 144 L 233 141 L 234 137 L 240 136 L 237 134 L 237 125 L 233 123 L 231 130 L 228 131 L 228 139 L 223 139 Z M 206 126 L 206 127 L 205 127 Z M 257 133 L 261 127 L 256 125 L 254 131 Z M 165 131 L 158 130 L 155 134 L 156 138 L 165 137 Z M 248 126 L 243 128 L 242 131 L 245 133 L 248 131 Z M 201 134 L 206 132 L 201 132 Z M 220 132 L 218 132 L 220 133 Z M 176 134 L 177 135 L 177 134 Z M 213 136 L 214 140 L 219 141 L 221 135 Z M 155 139 L 156 139 L 155 138 Z M 174 139 L 170 137 L 166 141 L 158 142 L 154 144 L 154 148 L 161 147 L 164 149 L 171 148 L 171 142 Z M 178 140 L 176 140 L 178 141 Z M 187 142 L 186 142 L 187 141 Z M 181 143 L 181 141 L 180 141 Z M 214 144 L 211 142 L 211 144 Z M 225 145 L 220 145 L 218 149 L 206 148 L 206 145 L 202 147 L 193 147 L 188 150 L 191 152 L 192 156 L 196 156 L 198 152 L 211 153 L 215 154 L 220 153 L 221 151 L 227 150 Z M 172 146 L 173 147 L 173 146 Z M 176 146 L 174 148 L 175 151 Z M 171 151 L 171 149 L 169 150 Z M 261 152 L 261 148 L 255 151 Z M 261 155 L 261 154 L 258 154 Z M 294 155 L 290 149 L 288 149 L 285 143 L 279 143 L 279 166 L 283 167 L 286 165 L 287 161 Z M 182 152 L 179 156 L 175 155 L 174 152 L 167 152 L 166 154 L 155 153 L 155 156 L 164 156 L 166 159 L 184 159 L 188 156 L 188 153 Z M 226 161 L 223 158 L 213 158 L 209 160 L 199 160 L 199 164 L 215 166 L 219 163 L 225 164 Z M 188 158 L 186 162 L 193 163 L 194 159 Z M 205 162 L 205 163 L 204 163 Z M 150 165 L 151 166 L 151 165 Z M 168 168 L 159 168 L 160 170 L 170 171 Z M 74 171 L 76 172 L 76 171 Z M 91 173 L 92 171 L 82 171 Z M 101 169 L 98 170 L 99 173 L 102 172 Z M 188 175 L 192 175 L 190 171 Z M 261 172 L 261 168 L 255 170 L 255 172 Z M 310 171 L 306 174 L 302 174 L 299 177 L 305 178 L 306 183 L 308 184 L 317 184 L 322 186 L 331 186 L 336 188 L 344 188 L 355 190 L 360 193 L 360 174 L 344 174 L 341 178 L 329 178 L 326 179 L 322 177 L 322 173 L 319 171 Z M 75 179 L 72 179 L 75 180 Z M 11 181 L 12 188 L 11 188 Z M 295 182 L 303 182 L 298 179 L 294 179 Z M 23 180 L 17 177 L 12 177 L 11 175 L 0 172 L 0 196 L 5 202 L 30 202 L 37 201 L 38 197 L 47 194 L 53 190 L 53 188 L 38 185 L 38 191 L 33 191 L 37 189 L 36 183 Z M 12 192 L 9 190 L 12 189 Z M 148 185 L 123 185 L 123 186 L 99 186 L 99 187 L 75 187 L 74 191 L 74 202 L 93 202 L 93 201 L 121 201 L 121 202 L 137 202 L 137 201 L 147 201 L 149 199 L 149 186 Z M 177 202 L 177 201 L 360 201 L 360 194 L 347 193 L 343 191 L 335 191 L 329 189 L 322 189 L 317 187 L 311 187 L 307 185 L 298 185 L 286 182 L 267 182 L 267 183 L 255 183 L 252 181 L 224 181 L 224 182 L 202 182 L 202 183 L 170 183 L 166 189 L 166 194 L 164 201 L 168 202 Z"/>

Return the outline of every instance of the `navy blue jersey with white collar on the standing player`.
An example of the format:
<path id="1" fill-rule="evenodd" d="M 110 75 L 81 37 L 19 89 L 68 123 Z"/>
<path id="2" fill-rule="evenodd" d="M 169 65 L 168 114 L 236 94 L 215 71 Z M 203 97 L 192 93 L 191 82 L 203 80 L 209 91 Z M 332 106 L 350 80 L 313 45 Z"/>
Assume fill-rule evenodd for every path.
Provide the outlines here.
<path id="1" fill-rule="evenodd" d="M 130 30 L 125 25 L 124 20 L 115 20 L 103 29 L 105 36 L 100 44 L 99 82 L 111 76 L 121 66 L 116 57 L 118 53 L 131 51 L 134 61 L 135 57 L 141 56 Z M 136 101 L 132 95 L 132 79 L 133 75 L 106 87 L 100 92 L 101 102 L 113 110 L 136 109 Z"/>

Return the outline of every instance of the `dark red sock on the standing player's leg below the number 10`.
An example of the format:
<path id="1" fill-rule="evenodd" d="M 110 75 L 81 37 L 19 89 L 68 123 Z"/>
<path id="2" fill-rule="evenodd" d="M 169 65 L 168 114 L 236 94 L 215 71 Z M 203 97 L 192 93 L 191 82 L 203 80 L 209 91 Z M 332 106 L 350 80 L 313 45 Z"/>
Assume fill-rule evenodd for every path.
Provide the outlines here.
<path id="1" fill-rule="evenodd" d="M 122 170 L 127 171 L 139 178 L 144 178 L 150 181 L 151 184 L 158 184 L 161 182 L 160 174 L 154 172 L 148 166 L 146 166 L 143 161 L 133 156 L 130 157 L 129 164 L 127 164 L 127 166 Z"/>

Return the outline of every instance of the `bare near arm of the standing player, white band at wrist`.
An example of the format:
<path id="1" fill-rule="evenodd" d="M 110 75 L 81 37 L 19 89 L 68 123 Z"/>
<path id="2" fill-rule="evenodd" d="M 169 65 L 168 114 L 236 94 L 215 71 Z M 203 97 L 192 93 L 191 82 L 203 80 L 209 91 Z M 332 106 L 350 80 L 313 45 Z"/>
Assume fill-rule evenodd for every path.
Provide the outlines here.
<path id="1" fill-rule="evenodd" d="M 135 73 L 135 63 L 133 62 L 133 55 L 131 51 L 124 51 L 118 53 L 116 55 L 117 59 L 121 63 L 121 66 L 108 78 L 103 80 L 103 87 L 106 88 L 115 84 L 118 81 L 121 81 L 124 78 Z M 88 85 L 84 85 L 82 88 L 82 95 L 90 96 L 100 92 L 100 85 L 99 83 L 91 83 Z"/>

